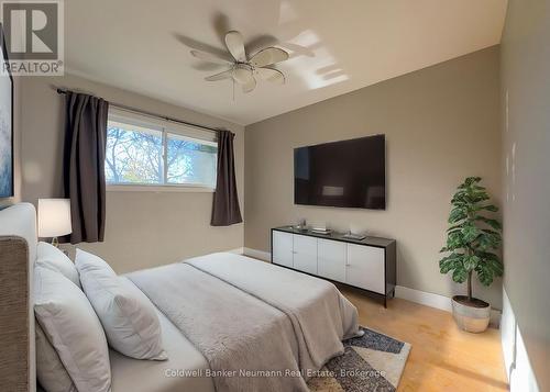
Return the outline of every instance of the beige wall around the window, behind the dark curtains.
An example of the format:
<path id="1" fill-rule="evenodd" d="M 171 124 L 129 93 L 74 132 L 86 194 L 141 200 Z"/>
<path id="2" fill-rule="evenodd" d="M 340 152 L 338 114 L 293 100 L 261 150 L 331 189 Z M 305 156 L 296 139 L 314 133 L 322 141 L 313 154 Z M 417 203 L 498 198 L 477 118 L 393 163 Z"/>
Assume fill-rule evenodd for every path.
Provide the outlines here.
<path id="1" fill-rule="evenodd" d="M 22 80 L 22 199 L 62 197 L 64 98 L 53 85 L 92 92 L 105 99 L 210 126 L 235 136 L 237 181 L 243 203 L 244 136 L 241 125 L 174 107 L 74 76 Z M 212 193 L 107 192 L 106 240 L 82 244 L 118 272 L 174 262 L 186 257 L 242 247 L 243 224 L 211 227 Z"/>

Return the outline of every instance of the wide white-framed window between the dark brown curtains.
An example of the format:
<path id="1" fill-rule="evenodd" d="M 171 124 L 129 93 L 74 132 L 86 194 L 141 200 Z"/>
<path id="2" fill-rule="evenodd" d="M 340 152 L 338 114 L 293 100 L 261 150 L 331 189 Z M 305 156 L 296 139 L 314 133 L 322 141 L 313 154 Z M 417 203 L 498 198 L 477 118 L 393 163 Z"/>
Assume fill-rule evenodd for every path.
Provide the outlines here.
<path id="1" fill-rule="evenodd" d="M 118 186 L 213 189 L 218 145 L 211 132 L 111 110 L 106 180 Z"/>

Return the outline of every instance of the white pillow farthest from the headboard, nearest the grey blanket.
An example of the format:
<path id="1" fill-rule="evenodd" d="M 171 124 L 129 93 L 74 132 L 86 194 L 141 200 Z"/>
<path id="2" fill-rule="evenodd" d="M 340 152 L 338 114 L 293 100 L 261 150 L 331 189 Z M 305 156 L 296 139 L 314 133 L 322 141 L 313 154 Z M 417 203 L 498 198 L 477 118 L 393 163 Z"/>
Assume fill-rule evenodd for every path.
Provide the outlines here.
<path id="1" fill-rule="evenodd" d="M 167 359 L 161 323 L 146 296 L 136 295 L 101 258 L 76 250 L 82 289 L 103 325 L 109 345 L 136 359 Z"/>

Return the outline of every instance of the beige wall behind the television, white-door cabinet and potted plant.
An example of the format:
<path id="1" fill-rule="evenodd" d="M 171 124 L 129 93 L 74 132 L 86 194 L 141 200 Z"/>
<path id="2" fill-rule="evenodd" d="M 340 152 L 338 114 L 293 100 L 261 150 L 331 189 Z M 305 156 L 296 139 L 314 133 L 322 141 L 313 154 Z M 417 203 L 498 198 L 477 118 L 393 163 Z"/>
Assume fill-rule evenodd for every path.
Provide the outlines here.
<path id="1" fill-rule="evenodd" d="M 245 247 L 270 250 L 270 228 L 326 221 L 398 244 L 399 285 L 450 295 L 439 273 L 450 199 L 481 176 L 501 203 L 498 47 L 381 82 L 250 126 L 245 132 Z M 293 148 L 383 133 L 387 210 L 294 205 Z M 475 294 L 502 305 L 501 284 Z"/>

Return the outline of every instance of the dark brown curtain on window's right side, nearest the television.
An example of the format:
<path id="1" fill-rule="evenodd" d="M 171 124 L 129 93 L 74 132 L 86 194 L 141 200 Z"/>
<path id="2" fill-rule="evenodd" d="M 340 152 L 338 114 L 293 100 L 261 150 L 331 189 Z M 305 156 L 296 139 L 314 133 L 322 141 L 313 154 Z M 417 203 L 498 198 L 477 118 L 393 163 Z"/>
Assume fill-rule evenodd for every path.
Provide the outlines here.
<path id="1" fill-rule="evenodd" d="M 229 131 L 218 131 L 218 179 L 212 205 L 212 226 L 229 226 L 242 222 L 237 194 L 233 138 Z"/>

